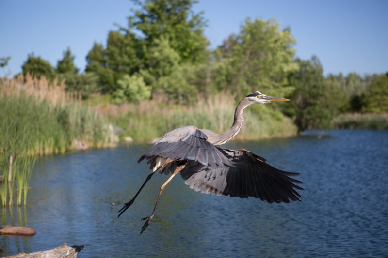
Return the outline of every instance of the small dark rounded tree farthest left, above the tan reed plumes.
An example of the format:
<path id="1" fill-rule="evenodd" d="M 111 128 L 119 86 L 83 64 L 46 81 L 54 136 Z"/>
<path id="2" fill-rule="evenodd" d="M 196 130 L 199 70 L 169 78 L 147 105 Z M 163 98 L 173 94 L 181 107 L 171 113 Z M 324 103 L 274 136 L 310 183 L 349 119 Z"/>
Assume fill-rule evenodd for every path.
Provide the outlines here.
<path id="1" fill-rule="evenodd" d="M 22 65 L 23 76 L 26 76 L 27 73 L 30 75 L 40 79 L 41 76 L 45 76 L 51 81 L 55 78 L 55 70 L 49 63 L 42 59 L 41 57 L 35 57 L 32 53 L 27 57 L 27 61 L 25 61 Z"/>

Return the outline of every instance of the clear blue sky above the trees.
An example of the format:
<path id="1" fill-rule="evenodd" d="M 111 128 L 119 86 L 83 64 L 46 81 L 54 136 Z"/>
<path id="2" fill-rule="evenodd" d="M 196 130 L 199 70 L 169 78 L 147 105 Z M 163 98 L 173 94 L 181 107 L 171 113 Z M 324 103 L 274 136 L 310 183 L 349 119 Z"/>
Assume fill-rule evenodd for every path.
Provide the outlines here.
<path id="1" fill-rule="evenodd" d="M 114 23 L 127 27 L 129 0 L 0 0 L 0 57 L 11 56 L 0 76 L 21 72 L 34 52 L 54 67 L 69 46 L 81 71 L 93 43 L 106 44 Z M 210 47 L 238 33 L 247 17 L 274 17 L 291 27 L 296 56 L 317 55 L 324 74 L 388 72 L 387 0 L 199 0 Z"/>

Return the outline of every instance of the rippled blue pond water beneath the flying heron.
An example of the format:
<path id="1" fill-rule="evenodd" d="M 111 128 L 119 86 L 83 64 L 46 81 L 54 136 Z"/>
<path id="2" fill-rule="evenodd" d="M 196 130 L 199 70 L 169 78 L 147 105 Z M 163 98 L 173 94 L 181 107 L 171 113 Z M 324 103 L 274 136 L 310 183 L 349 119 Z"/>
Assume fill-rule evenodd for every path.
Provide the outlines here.
<path id="1" fill-rule="evenodd" d="M 3 209 L 1 217 L 3 225 L 37 234 L 1 236 L 2 256 L 63 243 L 84 245 L 79 258 L 388 256 L 388 131 L 335 130 L 226 147 L 299 172 L 302 202 L 200 194 L 177 176 L 139 235 L 167 176 L 155 175 L 119 219 L 117 211 L 149 174 L 146 162 L 136 163 L 149 146 L 45 157 L 34 167 L 27 207 Z"/>

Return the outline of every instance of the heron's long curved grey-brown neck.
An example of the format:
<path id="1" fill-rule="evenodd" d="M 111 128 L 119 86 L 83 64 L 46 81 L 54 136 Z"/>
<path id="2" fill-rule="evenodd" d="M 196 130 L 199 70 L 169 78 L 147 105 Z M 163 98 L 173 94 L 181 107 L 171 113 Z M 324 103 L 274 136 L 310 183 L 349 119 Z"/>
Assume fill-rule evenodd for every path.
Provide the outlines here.
<path id="1" fill-rule="evenodd" d="M 249 103 L 247 99 L 242 99 L 242 101 L 240 101 L 239 105 L 236 107 L 236 111 L 234 112 L 234 121 L 232 127 L 225 133 L 219 134 L 216 141 L 213 143 L 214 145 L 222 145 L 228 142 L 241 131 L 242 126 L 244 125 L 242 111 L 244 111 L 244 109 L 249 105 L 251 105 L 251 103 Z"/>

